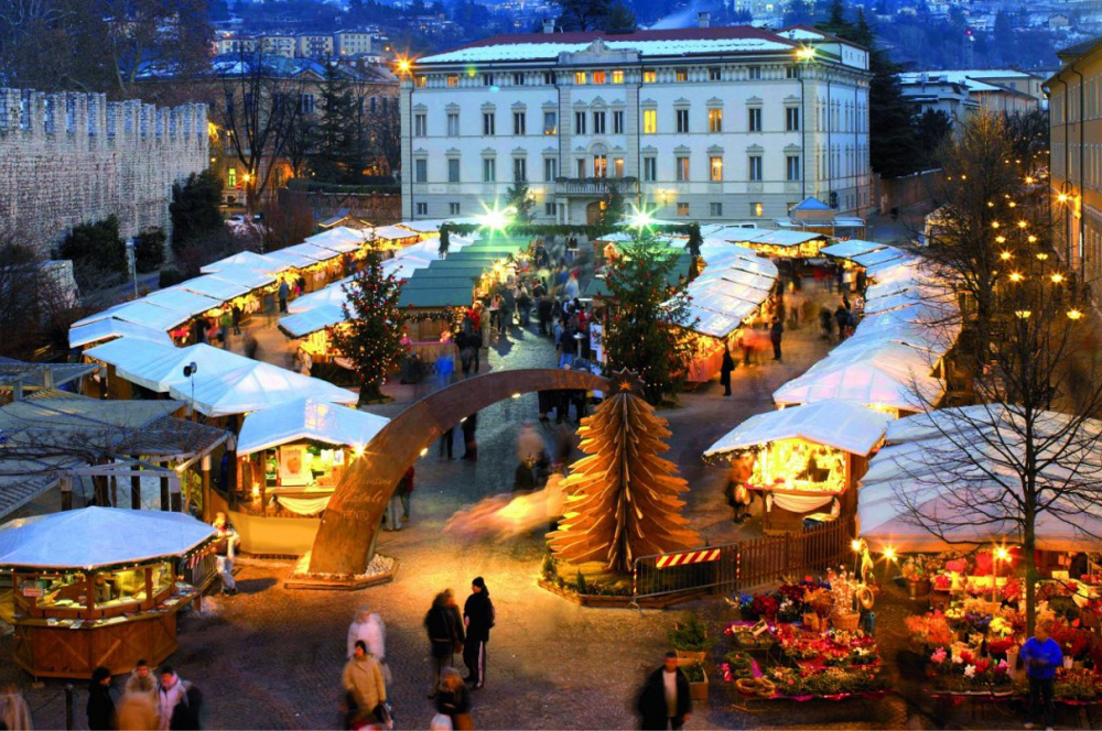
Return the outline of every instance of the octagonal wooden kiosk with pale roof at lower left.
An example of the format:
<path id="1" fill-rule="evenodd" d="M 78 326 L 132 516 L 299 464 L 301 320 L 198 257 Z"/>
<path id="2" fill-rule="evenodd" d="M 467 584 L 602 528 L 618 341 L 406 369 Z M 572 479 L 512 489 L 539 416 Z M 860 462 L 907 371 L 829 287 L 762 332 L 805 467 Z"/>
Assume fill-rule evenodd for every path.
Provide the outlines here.
<path id="1" fill-rule="evenodd" d="M 14 597 L 14 661 L 35 677 L 129 673 L 176 650 L 177 613 L 198 601 L 182 576 L 214 539 L 182 513 L 85 508 L 0 527 Z"/>

